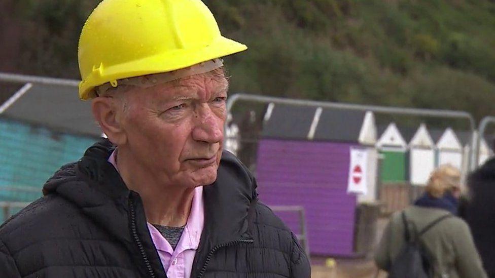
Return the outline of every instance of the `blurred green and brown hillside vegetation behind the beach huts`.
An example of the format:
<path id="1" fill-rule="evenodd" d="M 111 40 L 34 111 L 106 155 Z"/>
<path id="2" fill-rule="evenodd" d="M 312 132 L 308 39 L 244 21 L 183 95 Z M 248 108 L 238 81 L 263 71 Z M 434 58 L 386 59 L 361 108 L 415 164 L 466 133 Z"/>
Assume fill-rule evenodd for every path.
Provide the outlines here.
<path id="1" fill-rule="evenodd" d="M 98 2 L 0 4 L 0 70 L 78 78 L 79 31 Z M 226 59 L 231 92 L 495 113 L 493 1 L 204 2 L 249 47 Z"/>

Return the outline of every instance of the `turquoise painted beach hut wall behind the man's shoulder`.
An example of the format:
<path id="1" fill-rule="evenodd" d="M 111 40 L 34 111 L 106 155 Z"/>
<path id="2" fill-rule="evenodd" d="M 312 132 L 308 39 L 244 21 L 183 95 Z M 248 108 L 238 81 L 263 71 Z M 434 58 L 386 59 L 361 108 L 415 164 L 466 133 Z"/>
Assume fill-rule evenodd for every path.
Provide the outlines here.
<path id="1" fill-rule="evenodd" d="M 48 178 L 79 160 L 96 140 L 0 119 L 0 201 L 36 200 Z"/>

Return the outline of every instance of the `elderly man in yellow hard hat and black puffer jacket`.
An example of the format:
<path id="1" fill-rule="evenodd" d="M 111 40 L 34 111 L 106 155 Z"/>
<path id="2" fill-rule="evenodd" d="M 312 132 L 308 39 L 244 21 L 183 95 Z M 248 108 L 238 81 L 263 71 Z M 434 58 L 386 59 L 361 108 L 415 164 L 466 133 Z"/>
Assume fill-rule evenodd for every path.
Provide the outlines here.
<path id="1" fill-rule="evenodd" d="M 310 276 L 294 234 L 222 151 L 228 82 L 200 0 L 104 0 L 81 33 L 80 97 L 108 140 L 0 228 L 1 277 Z"/>

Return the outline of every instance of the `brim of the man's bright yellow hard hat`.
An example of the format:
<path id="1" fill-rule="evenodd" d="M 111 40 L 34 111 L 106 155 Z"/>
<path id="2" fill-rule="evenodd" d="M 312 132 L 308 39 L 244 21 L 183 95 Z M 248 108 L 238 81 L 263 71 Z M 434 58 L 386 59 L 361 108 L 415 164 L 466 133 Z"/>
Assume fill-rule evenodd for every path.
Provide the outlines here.
<path id="1" fill-rule="evenodd" d="M 96 96 L 94 88 L 109 82 L 109 80 L 117 81 L 123 78 L 178 70 L 246 49 L 248 47 L 245 45 L 221 36 L 210 45 L 199 48 L 180 49 L 108 68 L 100 65 L 79 84 L 79 97 L 82 100 L 94 98 Z"/>

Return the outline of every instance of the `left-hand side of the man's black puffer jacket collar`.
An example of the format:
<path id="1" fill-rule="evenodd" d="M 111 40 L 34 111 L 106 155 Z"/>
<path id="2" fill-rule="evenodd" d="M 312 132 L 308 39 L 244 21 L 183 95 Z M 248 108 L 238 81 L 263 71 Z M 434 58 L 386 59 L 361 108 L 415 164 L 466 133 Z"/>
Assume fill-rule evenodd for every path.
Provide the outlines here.
<path id="1" fill-rule="evenodd" d="M 55 173 L 43 187 L 43 192 L 65 198 L 120 242 L 131 245 L 128 221 L 130 191 L 105 159 L 113 148 L 108 140 L 95 143 L 81 160 Z"/>

